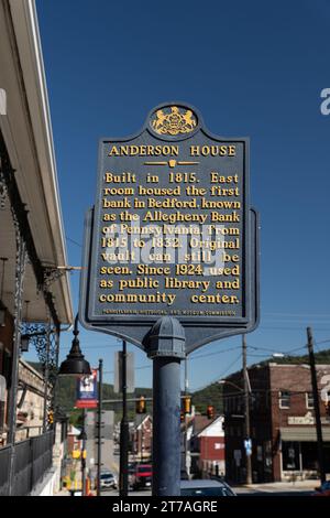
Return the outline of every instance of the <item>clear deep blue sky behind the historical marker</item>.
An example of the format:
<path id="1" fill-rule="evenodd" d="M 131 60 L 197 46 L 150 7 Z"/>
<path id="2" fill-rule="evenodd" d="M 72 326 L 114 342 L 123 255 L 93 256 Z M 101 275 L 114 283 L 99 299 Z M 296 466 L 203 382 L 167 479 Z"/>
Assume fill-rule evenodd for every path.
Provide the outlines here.
<path id="1" fill-rule="evenodd" d="M 261 324 L 249 363 L 306 344 L 327 348 L 329 322 L 330 6 L 326 0 L 111 2 L 38 0 L 69 263 L 80 265 L 86 209 L 94 204 L 98 140 L 141 128 L 154 106 L 196 106 L 210 131 L 251 138 L 251 197 L 261 213 Z M 79 274 L 72 276 L 77 309 Z M 112 381 L 120 343 L 80 333 L 92 364 Z M 72 335 L 63 335 L 63 355 Z M 189 359 L 196 389 L 241 365 L 241 337 Z M 254 348 L 253 348 L 254 347 Z M 136 382 L 151 361 L 136 347 Z"/>

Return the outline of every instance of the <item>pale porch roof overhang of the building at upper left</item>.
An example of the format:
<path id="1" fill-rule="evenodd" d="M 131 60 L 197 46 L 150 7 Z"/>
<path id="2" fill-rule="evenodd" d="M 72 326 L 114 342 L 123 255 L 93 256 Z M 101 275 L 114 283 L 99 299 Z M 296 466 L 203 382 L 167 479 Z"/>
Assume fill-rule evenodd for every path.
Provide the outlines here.
<path id="1" fill-rule="evenodd" d="M 0 142 L 3 140 L 28 214 L 31 236 L 28 233 L 24 236 L 31 249 L 33 244 L 40 268 L 48 267 L 56 272 L 57 267 L 66 267 L 68 261 L 35 2 L 0 1 Z M 2 302 L 13 314 L 16 241 L 8 197 L 0 211 L 0 250 L 1 257 L 8 259 Z M 23 296 L 30 303 L 29 312 L 24 305 L 22 317 L 47 322 L 48 307 L 36 285 L 35 265 L 34 258 L 34 263 L 26 267 Z M 1 267 L 2 263 L 0 276 Z M 68 273 L 54 279 L 50 291 L 58 321 L 72 323 Z"/>

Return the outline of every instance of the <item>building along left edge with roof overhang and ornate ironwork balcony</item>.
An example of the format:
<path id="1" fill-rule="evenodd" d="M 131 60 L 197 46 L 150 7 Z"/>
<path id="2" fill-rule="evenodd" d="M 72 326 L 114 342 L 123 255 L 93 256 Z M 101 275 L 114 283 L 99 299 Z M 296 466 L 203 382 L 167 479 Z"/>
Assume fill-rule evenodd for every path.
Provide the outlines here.
<path id="1" fill-rule="evenodd" d="M 24 483 L 20 470 L 31 468 L 35 477 L 33 462 L 41 465 L 25 450 L 43 452 L 44 470 L 52 463 L 46 450 L 53 444 L 54 430 L 47 418 L 55 410 L 62 325 L 73 322 L 34 0 L 0 0 L 0 494 L 24 495 L 32 487 Z M 43 388 L 35 387 L 37 376 L 20 363 L 28 344 L 42 365 L 44 404 L 38 399 Z M 23 409 L 28 404 L 23 398 L 26 377 L 34 379 L 34 410 Z M 42 425 L 35 429 L 38 436 L 28 439 L 22 428 L 32 413 Z M 19 451 L 24 451 L 24 458 L 32 458 L 30 467 L 19 460 L 15 464 L 18 455 L 11 447 L 24 441 Z M 14 481 L 19 481 L 16 485 Z M 32 483 L 36 482 L 32 477 Z"/>

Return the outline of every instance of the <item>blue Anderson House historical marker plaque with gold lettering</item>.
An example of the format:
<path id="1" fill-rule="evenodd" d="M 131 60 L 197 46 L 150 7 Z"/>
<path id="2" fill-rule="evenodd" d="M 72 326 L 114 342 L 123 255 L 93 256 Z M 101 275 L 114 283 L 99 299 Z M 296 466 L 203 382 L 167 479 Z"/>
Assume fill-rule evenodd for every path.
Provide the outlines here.
<path id="1" fill-rule="evenodd" d="M 160 317 L 175 316 L 187 352 L 251 331 L 256 227 L 248 139 L 211 134 L 185 104 L 158 106 L 139 134 L 100 141 L 80 320 L 143 347 Z"/>

